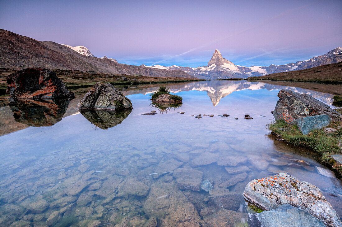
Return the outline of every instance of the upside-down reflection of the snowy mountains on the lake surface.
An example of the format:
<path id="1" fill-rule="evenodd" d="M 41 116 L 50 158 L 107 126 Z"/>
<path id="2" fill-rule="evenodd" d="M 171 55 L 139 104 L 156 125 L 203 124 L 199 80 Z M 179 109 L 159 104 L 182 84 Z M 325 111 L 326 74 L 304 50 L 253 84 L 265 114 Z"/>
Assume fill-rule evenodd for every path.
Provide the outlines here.
<path id="1" fill-rule="evenodd" d="M 242 90 L 259 90 L 259 89 L 267 89 L 271 90 L 281 90 L 287 89 L 298 93 L 310 94 L 314 98 L 318 99 L 321 102 L 324 102 L 328 105 L 331 105 L 331 97 L 332 95 L 329 93 L 313 91 L 304 88 L 297 87 L 289 87 L 289 86 L 279 86 L 279 85 L 271 85 L 262 82 L 249 82 L 246 80 L 211 80 L 211 81 L 199 81 L 199 82 L 190 82 L 190 83 L 179 83 L 179 84 L 170 84 L 171 93 L 178 93 L 181 91 L 205 91 L 207 92 L 211 102 L 214 106 L 218 105 L 220 100 L 225 96 L 232 94 L 234 91 L 242 91 Z M 124 95 L 130 94 L 148 94 L 154 92 L 158 89 L 157 86 L 154 87 L 146 87 L 143 88 L 141 86 L 141 90 L 126 90 L 122 91 Z"/>

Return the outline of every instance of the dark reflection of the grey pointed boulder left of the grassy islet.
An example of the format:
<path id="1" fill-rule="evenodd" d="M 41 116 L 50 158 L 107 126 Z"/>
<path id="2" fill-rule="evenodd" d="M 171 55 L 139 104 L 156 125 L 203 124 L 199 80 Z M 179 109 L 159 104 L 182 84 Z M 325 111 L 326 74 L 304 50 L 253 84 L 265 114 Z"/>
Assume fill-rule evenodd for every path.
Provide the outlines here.
<path id="1" fill-rule="evenodd" d="M 90 109 L 90 110 L 80 110 L 82 115 L 87 118 L 92 124 L 99 128 L 107 129 L 114 127 L 128 117 L 132 112 L 131 109 L 126 110 L 100 110 L 100 109 Z"/>

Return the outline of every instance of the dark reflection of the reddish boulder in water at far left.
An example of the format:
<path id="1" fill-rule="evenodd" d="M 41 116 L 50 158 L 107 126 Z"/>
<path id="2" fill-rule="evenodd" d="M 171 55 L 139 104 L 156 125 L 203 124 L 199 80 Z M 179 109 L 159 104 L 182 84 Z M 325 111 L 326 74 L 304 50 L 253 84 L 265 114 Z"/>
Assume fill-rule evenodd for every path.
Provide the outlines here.
<path id="1" fill-rule="evenodd" d="M 70 99 L 19 99 L 10 105 L 14 120 L 29 126 L 51 126 L 62 120 Z"/>

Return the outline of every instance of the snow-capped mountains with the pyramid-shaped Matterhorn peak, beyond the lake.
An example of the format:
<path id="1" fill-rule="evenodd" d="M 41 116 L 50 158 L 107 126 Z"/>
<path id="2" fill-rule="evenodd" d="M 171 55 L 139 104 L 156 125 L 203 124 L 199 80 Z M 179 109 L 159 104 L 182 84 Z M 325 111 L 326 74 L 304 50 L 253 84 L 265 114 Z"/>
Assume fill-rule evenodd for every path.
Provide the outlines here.
<path id="1" fill-rule="evenodd" d="M 250 76 L 263 76 L 271 73 L 281 73 L 293 70 L 309 69 L 319 65 L 332 64 L 342 61 L 342 47 L 338 47 L 329 51 L 325 55 L 313 57 L 305 61 L 297 61 L 296 63 L 289 63 L 285 65 L 269 65 L 269 66 L 241 66 L 235 65 L 233 62 L 223 58 L 221 52 L 216 49 L 211 57 L 208 65 L 199 66 L 196 68 L 183 67 L 177 65 L 162 66 L 153 65 L 145 67 L 152 67 L 157 69 L 167 70 L 182 70 L 192 76 L 200 79 L 225 79 L 225 78 L 247 78 Z"/>

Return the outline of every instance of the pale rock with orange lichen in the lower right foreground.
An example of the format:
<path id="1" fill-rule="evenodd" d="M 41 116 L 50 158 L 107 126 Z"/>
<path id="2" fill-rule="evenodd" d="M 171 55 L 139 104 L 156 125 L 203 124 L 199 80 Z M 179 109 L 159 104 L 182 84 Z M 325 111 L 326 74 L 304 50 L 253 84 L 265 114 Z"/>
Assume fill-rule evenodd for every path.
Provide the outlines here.
<path id="1" fill-rule="evenodd" d="M 290 204 L 317 217 L 326 226 L 342 226 L 336 211 L 318 187 L 284 172 L 252 180 L 245 187 L 244 197 L 263 210 Z"/>

